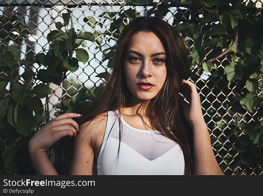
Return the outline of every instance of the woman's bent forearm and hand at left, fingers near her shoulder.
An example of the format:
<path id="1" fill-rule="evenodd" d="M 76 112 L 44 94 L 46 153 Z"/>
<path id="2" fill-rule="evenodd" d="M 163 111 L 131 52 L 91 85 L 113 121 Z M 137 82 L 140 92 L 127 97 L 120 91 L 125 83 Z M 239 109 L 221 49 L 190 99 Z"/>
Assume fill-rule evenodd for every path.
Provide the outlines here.
<path id="1" fill-rule="evenodd" d="M 45 124 L 28 142 L 28 149 L 37 175 L 58 175 L 47 155 L 47 150 L 60 138 L 76 137 L 79 126 L 72 118 L 77 113 L 64 113 Z"/>

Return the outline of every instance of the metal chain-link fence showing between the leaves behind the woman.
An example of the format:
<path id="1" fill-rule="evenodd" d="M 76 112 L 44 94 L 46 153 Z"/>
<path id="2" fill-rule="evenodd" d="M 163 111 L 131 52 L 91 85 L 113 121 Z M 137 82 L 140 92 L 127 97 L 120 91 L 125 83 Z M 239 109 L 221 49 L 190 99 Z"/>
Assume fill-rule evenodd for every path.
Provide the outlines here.
<path id="1" fill-rule="evenodd" d="M 161 2 L 162 1 L 158 4 Z M 262 14 L 262 1 L 244 1 L 243 3 L 246 5 L 250 4 L 250 6 L 253 5 L 259 10 L 258 15 L 256 15 L 255 18 L 258 17 L 259 14 Z M 169 3 L 167 5 L 169 5 Z M 74 89 L 74 92 L 78 93 L 81 88 L 85 88 L 88 92 L 90 92 L 93 88 L 96 88 L 104 81 L 103 78 L 95 76 L 101 72 L 110 72 L 110 67 L 107 66 L 107 61 L 102 61 L 103 53 L 105 55 L 104 50 L 108 47 L 114 46 L 116 39 L 112 36 L 114 32 L 108 33 L 108 37 L 106 38 L 102 36 L 102 34 L 109 32 L 111 24 L 114 24 L 114 20 L 117 20 L 117 17 L 109 16 L 105 19 L 101 16 L 105 12 L 122 12 L 123 10 L 128 10 L 129 8 L 136 10 L 141 16 L 146 16 L 149 10 L 157 9 L 156 4 L 152 3 L 147 6 L 132 6 L 128 5 L 126 1 L 108 0 L 0 1 L 1 15 L 7 16 L 10 20 L 12 20 L 12 18 L 14 19 L 14 17 L 18 17 L 16 19 L 18 19 L 19 22 L 21 22 L 25 27 L 29 27 L 30 29 L 28 37 L 22 38 L 22 41 L 13 40 L 4 42 L 7 46 L 16 44 L 21 49 L 20 59 L 48 50 L 49 44 L 46 40 L 47 34 L 51 30 L 55 30 L 55 22 L 62 21 L 62 13 L 66 13 L 67 9 L 72 11 L 70 23 L 71 27 L 74 27 L 78 31 L 98 32 L 98 37 L 96 38 L 97 41 L 84 46 L 88 50 L 90 57 L 89 61 L 86 64 L 79 64 L 79 70 L 76 72 L 69 72 L 65 79 L 67 83 L 63 82 L 61 85 L 53 83 L 50 84 L 53 94 L 48 97 L 48 104 L 46 103 L 45 98 L 42 99 L 44 108 L 48 110 L 49 118 L 55 117 L 54 114 L 57 111 L 56 105 L 61 101 L 61 97 L 65 96 L 63 92 L 68 93 L 70 90 Z M 166 10 L 165 13 L 162 13 L 163 10 L 160 10 L 158 14 L 162 15 L 163 20 L 168 21 L 173 26 L 182 22 L 198 20 L 197 10 L 190 10 L 186 7 L 186 5 L 169 6 L 168 9 L 166 8 L 163 8 L 163 10 Z M 87 17 L 93 17 L 97 22 L 96 25 L 91 25 L 91 23 L 93 24 L 92 20 L 85 21 L 84 18 Z M 10 35 L 12 32 L 14 34 L 22 35 L 22 32 L 25 30 L 23 25 L 20 28 L 20 32 L 14 32 L 15 30 L 7 32 L 5 31 L 5 28 L 0 29 L 0 31 L 2 36 L 3 32 L 6 33 L 6 36 Z M 262 36 L 263 34 L 260 37 Z M 1 38 L 2 40 L 0 41 L 2 43 L 4 39 L 3 37 Z M 211 51 L 211 54 L 213 54 L 213 51 Z M 213 55 L 217 56 L 218 53 L 214 53 Z M 214 62 L 218 69 L 212 73 L 197 73 L 190 78 L 190 81 L 196 84 L 199 95 L 201 96 L 204 119 L 210 132 L 212 149 L 223 173 L 225 175 L 261 175 L 263 173 L 262 161 L 261 163 L 255 163 L 254 168 L 247 167 L 244 169 L 240 167 L 239 152 L 233 148 L 236 139 L 232 136 L 234 131 L 238 131 L 240 132 L 240 135 L 242 135 L 242 130 L 238 126 L 233 126 L 231 124 L 231 118 L 237 118 L 240 122 L 243 121 L 245 124 L 259 124 L 258 121 L 255 121 L 254 116 L 259 110 L 262 110 L 262 106 L 256 108 L 254 113 L 248 112 L 245 107 L 241 106 L 243 113 L 242 116 L 239 115 L 240 104 L 237 104 L 237 102 L 239 103 L 238 96 L 241 96 L 242 94 L 237 94 L 235 92 L 235 88 L 239 88 L 239 91 L 242 91 L 242 89 L 245 88 L 245 81 L 234 81 L 231 83 L 230 87 L 227 88 L 226 84 L 228 81 L 226 80 L 226 75 L 224 73 L 224 66 L 229 64 L 229 62 L 230 61 L 223 56 Z M 39 67 L 38 64 L 34 64 L 32 67 L 21 66 L 18 71 L 19 73 L 22 73 L 26 69 L 31 69 L 34 72 L 37 72 L 37 70 L 41 68 L 43 67 Z M 195 67 L 193 67 L 193 69 L 195 69 Z M 3 73 L 1 72 L 1 74 Z M 263 81 L 262 77 L 259 78 L 259 81 Z M 35 85 L 40 81 L 32 82 L 32 85 Z M 6 90 L 10 90 L 9 85 L 6 87 Z M 259 92 L 259 94 L 262 94 L 262 91 Z M 70 97 L 72 97 L 72 94 Z M 230 108 L 232 108 L 231 112 L 229 112 Z M 239 113 L 233 113 L 233 111 L 239 111 Z M 225 117 L 228 117 L 227 119 L 229 119 L 229 121 L 226 121 Z M 13 138 L 11 132 L 10 135 L 7 136 L 6 140 L 11 140 L 14 144 L 16 144 L 19 140 L 23 140 L 23 138 Z M 59 155 L 61 152 L 60 144 L 60 142 L 57 142 L 48 151 L 48 156 L 58 173 L 66 174 L 65 169 L 60 168 L 59 165 Z M 29 157 L 21 159 L 18 165 L 19 170 L 15 173 L 16 175 L 35 174 L 34 167 Z"/>

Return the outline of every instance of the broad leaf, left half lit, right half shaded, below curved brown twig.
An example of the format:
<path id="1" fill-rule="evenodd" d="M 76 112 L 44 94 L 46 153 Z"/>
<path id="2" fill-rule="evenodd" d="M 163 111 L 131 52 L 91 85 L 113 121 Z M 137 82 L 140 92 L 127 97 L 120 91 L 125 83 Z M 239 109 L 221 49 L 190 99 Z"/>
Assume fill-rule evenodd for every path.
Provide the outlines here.
<path id="1" fill-rule="evenodd" d="M 227 80 L 239 80 L 243 75 L 243 67 L 241 64 L 236 65 L 234 62 L 226 65 L 224 72 L 227 74 Z"/>

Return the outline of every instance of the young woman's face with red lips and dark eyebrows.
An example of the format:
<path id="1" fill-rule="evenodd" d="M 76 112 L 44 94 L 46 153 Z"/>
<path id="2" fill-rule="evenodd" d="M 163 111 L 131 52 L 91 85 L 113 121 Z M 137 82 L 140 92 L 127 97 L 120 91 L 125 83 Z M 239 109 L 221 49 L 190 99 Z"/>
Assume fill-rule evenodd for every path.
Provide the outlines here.
<path id="1" fill-rule="evenodd" d="M 152 32 L 138 32 L 129 43 L 123 61 L 125 80 L 132 94 L 142 100 L 154 98 L 166 79 L 165 50 Z M 150 82 L 152 86 L 138 85 Z"/>

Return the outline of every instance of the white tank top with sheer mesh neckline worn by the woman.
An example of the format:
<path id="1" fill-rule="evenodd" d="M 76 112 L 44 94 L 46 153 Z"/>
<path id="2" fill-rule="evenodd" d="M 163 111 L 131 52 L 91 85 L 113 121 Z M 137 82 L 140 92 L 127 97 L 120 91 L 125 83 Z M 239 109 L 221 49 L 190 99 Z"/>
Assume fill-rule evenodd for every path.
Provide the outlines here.
<path id="1" fill-rule="evenodd" d="M 160 131 L 136 129 L 127 124 L 122 116 L 123 132 L 117 159 L 117 115 L 117 110 L 108 112 L 106 130 L 97 159 L 97 175 L 184 175 L 184 155 L 178 143 L 164 135 L 158 135 Z"/>

